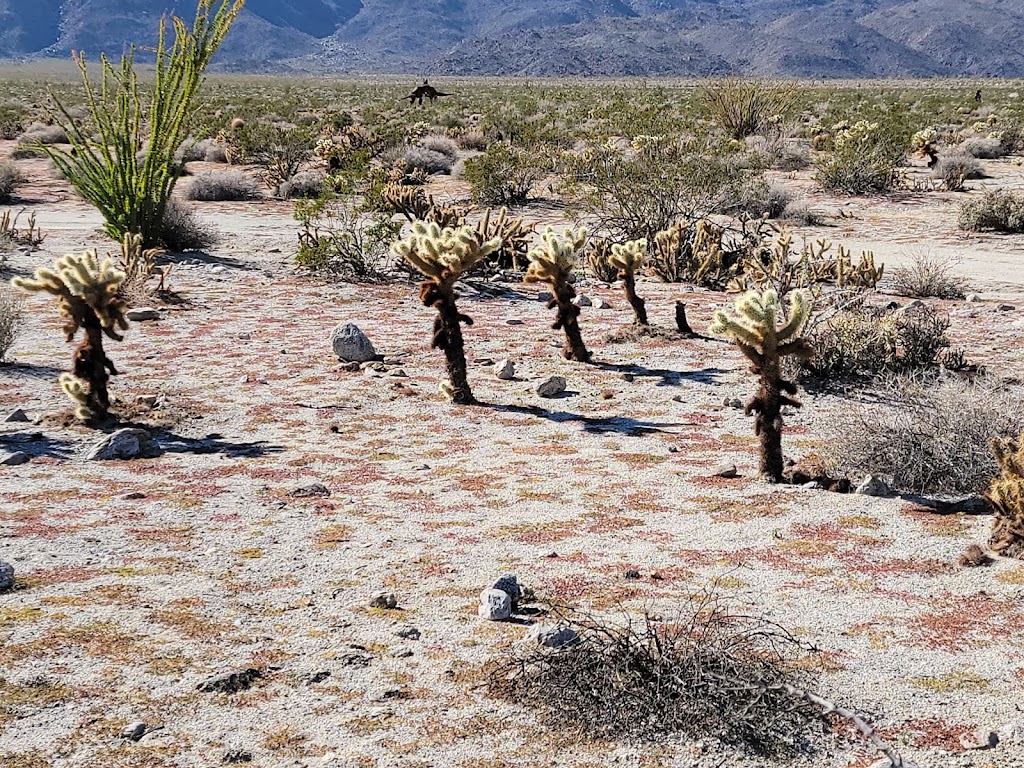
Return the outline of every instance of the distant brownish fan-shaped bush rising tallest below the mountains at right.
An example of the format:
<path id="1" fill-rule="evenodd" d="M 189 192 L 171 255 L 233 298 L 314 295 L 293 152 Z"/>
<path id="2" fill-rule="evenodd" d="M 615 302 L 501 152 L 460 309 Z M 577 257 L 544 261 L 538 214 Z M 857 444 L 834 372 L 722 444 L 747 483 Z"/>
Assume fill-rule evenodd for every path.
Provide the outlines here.
<path id="1" fill-rule="evenodd" d="M 798 95 L 792 83 L 726 78 L 703 86 L 700 96 L 729 138 L 742 139 L 777 121 Z"/>

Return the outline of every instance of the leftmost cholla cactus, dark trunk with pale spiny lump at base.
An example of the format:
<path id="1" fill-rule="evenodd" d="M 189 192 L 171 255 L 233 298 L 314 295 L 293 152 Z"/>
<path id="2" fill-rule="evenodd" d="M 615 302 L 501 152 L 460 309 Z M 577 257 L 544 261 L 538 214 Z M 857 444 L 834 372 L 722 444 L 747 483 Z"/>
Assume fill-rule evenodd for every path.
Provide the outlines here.
<path id="1" fill-rule="evenodd" d="M 119 294 L 124 279 L 109 257 L 100 261 L 92 251 L 68 254 L 57 259 L 53 269 L 40 268 L 34 278 L 11 281 L 27 293 L 57 297 L 68 341 L 74 340 L 79 329 L 85 330 L 75 350 L 74 375 L 61 374 L 59 380 L 61 389 L 78 403 L 76 415 L 83 421 L 102 420 L 110 411 L 106 384 L 118 372 L 103 351 L 103 336 L 121 341 L 118 329 L 128 328 L 127 303 Z"/>

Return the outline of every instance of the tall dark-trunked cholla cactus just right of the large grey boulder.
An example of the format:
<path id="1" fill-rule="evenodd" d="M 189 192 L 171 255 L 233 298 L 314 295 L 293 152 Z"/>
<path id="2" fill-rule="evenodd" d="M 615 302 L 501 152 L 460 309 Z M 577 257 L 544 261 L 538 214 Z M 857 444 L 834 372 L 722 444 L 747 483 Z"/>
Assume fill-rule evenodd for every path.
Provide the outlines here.
<path id="1" fill-rule="evenodd" d="M 437 310 L 431 347 L 442 349 L 447 360 L 449 384 L 441 389 L 453 402 L 473 402 L 466 377 L 466 351 L 462 324 L 473 325 L 456 305 L 456 282 L 469 269 L 501 248 L 501 240 L 480 243 L 468 226 L 442 229 L 434 222 L 414 221 L 413 233 L 394 245 L 394 252 L 421 271 L 427 280 L 420 285 L 424 306 Z"/>

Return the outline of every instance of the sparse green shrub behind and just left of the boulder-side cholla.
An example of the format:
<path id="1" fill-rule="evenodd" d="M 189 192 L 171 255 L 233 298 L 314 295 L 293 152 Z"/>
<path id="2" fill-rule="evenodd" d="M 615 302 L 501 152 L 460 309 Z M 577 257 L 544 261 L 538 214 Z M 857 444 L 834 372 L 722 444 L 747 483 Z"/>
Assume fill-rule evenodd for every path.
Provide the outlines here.
<path id="1" fill-rule="evenodd" d="M 352 196 L 325 190 L 316 200 L 298 201 L 295 218 L 302 224 L 299 266 L 348 283 L 379 283 L 389 275 L 391 245 L 401 230 L 389 215 L 371 215 Z"/>

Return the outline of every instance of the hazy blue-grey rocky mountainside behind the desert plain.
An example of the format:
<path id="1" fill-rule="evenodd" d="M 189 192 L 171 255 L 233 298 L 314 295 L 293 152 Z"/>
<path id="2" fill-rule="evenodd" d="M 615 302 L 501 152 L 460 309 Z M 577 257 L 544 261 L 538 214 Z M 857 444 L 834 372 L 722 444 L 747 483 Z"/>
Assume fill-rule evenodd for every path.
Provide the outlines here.
<path id="1" fill-rule="evenodd" d="M 0 57 L 120 53 L 181 0 L 0 0 Z M 248 0 L 223 70 L 1024 77 L 1020 0 Z"/>

